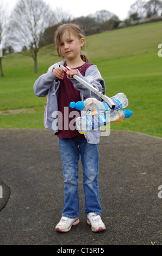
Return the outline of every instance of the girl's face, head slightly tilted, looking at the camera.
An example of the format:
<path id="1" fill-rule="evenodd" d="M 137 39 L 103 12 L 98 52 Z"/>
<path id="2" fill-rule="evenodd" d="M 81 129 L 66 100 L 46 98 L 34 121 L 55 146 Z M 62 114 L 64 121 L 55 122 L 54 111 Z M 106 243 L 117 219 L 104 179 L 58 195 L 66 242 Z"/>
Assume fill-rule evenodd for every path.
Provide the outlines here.
<path id="1" fill-rule="evenodd" d="M 60 40 L 60 51 L 66 59 L 80 58 L 80 50 L 84 45 L 84 38 L 78 39 L 76 35 L 65 31 Z"/>

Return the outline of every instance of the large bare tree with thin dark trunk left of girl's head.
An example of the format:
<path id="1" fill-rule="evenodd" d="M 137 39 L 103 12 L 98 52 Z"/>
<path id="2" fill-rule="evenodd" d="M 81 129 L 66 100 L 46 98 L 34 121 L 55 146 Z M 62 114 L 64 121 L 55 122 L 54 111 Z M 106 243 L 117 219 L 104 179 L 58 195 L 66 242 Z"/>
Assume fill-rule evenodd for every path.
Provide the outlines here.
<path id="1" fill-rule="evenodd" d="M 54 23 L 54 14 L 42 0 L 19 0 L 11 14 L 10 38 L 30 50 L 34 59 L 34 71 L 38 72 L 37 54 L 43 32 Z M 21 50 L 20 49 L 20 50 Z"/>

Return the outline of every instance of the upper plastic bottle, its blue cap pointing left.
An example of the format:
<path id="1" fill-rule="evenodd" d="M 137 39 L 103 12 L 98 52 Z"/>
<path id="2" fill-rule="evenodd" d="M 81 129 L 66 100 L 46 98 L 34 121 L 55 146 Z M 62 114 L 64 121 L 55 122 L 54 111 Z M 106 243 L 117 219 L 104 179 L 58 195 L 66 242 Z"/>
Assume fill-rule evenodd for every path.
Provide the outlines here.
<path id="1" fill-rule="evenodd" d="M 96 114 L 99 112 L 114 111 L 128 106 L 127 96 L 123 93 L 117 93 L 115 96 L 111 97 L 111 100 L 113 100 L 115 104 L 114 109 L 111 109 L 107 102 L 99 101 L 96 98 L 88 98 L 76 103 L 72 101 L 70 102 L 70 107 L 85 111 L 87 114 Z"/>

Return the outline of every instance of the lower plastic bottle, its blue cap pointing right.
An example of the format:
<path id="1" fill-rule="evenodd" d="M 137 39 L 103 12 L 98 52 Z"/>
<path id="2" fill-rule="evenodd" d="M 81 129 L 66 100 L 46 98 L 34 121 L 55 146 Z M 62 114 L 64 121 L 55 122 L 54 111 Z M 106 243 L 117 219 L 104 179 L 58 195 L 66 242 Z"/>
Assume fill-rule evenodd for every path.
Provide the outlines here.
<path id="1" fill-rule="evenodd" d="M 129 109 L 116 110 L 95 115 L 84 115 L 76 118 L 76 127 L 80 133 L 98 129 L 103 125 L 113 122 L 121 122 L 125 118 L 129 118 L 133 114 Z"/>

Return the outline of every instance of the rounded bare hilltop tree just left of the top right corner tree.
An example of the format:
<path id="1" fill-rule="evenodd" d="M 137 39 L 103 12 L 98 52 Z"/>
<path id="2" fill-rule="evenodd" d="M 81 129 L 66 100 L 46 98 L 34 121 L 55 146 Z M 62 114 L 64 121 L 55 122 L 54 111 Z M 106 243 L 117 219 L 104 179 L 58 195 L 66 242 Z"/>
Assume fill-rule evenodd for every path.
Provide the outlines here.
<path id="1" fill-rule="evenodd" d="M 132 18 L 132 20 L 144 19 L 146 15 L 146 10 L 144 8 L 145 4 L 146 1 L 138 0 L 130 5 L 130 10 L 128 12 L 129 17 Z"/>

